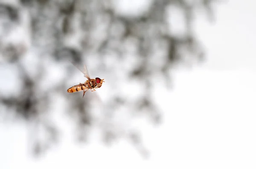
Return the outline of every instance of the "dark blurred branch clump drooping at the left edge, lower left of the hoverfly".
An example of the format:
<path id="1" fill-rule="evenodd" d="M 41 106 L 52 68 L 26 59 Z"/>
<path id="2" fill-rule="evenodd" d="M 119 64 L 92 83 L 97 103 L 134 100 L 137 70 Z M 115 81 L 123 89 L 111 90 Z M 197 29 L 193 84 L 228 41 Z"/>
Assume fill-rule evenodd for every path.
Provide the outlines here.
<path id="1" fill-rule="evenodd" d="M 17 118 L 25 119 L 30 126 L 31 133 L 29 133 L 29 140 L 34 141 L 31 145 L 34 145 L 33 151 L 35 154 L 40 154 L 45 151 L 49 144 L 54 143 L 58 139 L 58 132 L 55 125 L 50 124 L 50 121 L 45 120 L 44 113 L 49 110 L 49 93 L 38 94 L 38 87 L 36 79 L 32 79 L 26 73 L 22 65 L 19 66 L 19 77 L 23 80 L 21 86 L 21 91 L 17 91 L 17 97 L 4 97 L 0 96 L 0 102 L 6 107 L 16 108 Z M 40 78 L 41 73 L 38 72 L 38 78 Z M 60 88 L 60 86 L 55 86 Z M 55 90 L 55 88 L 53 88 Z M 48 135 L 48 139 L 45 143 L 41 143 L 38 140 L 38 134 L 40 133 L 40 128 L 43 128 Z M 47 144 L 47 145 L 46 145 Z"/>

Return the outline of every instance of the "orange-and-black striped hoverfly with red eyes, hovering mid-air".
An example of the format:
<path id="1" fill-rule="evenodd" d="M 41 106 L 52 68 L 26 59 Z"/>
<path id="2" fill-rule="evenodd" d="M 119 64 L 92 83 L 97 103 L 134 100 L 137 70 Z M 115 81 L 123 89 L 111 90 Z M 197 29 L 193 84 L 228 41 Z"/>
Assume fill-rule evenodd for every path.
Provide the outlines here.
<path id="1" fill-rule="evenodd" d="M 71 62 L 76 68 L 79 69 L 78 66 L 76 66 L 73 62 Z M 95 89 L 99 88 L 102 86 L 102 83 L 105 82 L 104 79 L 99 79 L 98 77 L 96 77 L 95 79 L 90 79 L 90 76 L 88 74 L 88 71 L 87 71 L 87 68 L 86 68 L 86 65 L 84 65 L 84 69 L 81 70 L 79 69 L 83 74 L 84 74 L 84 77 L 87 78 L 87 81 L 83 83 L 79 83 L 79 85 L 75 85 L 73 87 L 70 87 L 67 92 L 68 93 L 74 93 L 74 92 L 79 92 L 81 90 L 84 91 L 83 93 L 83 98 L 84 98 L 84 94 L 87 90 L 91 90 L 92 92 L 93 91 L 96 91 Z"/>

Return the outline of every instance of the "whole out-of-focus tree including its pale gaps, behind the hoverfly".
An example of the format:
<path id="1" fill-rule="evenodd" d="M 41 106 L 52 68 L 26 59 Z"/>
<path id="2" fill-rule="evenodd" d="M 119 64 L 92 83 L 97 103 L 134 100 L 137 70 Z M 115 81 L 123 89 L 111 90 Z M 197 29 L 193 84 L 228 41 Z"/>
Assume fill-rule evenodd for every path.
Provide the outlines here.
<path id="1" fill-rule="evenodd" d="M 170 87 L 174 65 L 204 58 L 192 24 L 197 10 L 204 9 L 202 14 L 212 17 L 213 1 L 0 2 L 1 73 L 15 74 L 14 82 L 1 79 L 6 85 L 0 90 L 1 115 L 13 114 L 29 124 L 36 154 L 60 138 L 51 115 L 56 111 L 72 117 L 80 141 L 86 141 L 90 128 L 97 125 L 105 143 L 123 136 L 142 147 L 138 130 L 127 125 L 138 115 L 160 123 L 153 87 Z M 82 78 L 70 59 L 106 80 L 102 88 L 107 99 L 92 104 L 93 93 L 82 99 L 81 93 L 66 92 L 78 76 Z"/>

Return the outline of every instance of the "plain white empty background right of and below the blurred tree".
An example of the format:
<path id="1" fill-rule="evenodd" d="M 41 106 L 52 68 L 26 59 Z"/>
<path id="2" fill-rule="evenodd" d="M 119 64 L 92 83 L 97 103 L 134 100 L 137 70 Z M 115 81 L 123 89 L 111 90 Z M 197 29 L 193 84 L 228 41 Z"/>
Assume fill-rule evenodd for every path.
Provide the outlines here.
<path id="1" fill-rule="evenodd" d="M 69 126 L 66 139 L 35 159 L 26 125 L 0 119 L 0 168 L 255 169 L 255 8 L 253 0 L 233 0 L 215 6 L 215 23 L 198 17 L 194 26 L 206 61 L 177 68 L 173 90 L 154 93 L 164 112 L 159 127 L 134 124 L 143 129 L 148 159 L 125 139 L 108 147 L 92 136 L 89 146 L 74 145 Z"/>

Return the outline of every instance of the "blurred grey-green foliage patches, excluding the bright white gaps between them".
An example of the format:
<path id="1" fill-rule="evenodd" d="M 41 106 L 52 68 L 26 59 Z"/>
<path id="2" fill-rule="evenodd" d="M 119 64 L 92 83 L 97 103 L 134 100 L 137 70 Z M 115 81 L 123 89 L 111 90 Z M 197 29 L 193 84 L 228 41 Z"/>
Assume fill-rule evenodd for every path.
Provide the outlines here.
<path id="1" fill-rule="evenodd" d="M 11 1 L 10 1 L 11 2 Z M 0 102 L 6 107 L 14 108 L 18 116 L 32 124 L 34 132 L 31 140 L 34 152 L 40 154 L 51 144 L 57 143 L 58 127 L 46 120 L 42 114 L 47 114 L 51 107 L 51 97 L 61 94 L 69 97 L 66 104 L 70 105 L 70 112 L 77 112 L 78 137 L 86 141 L 87 129 L 92 125 L 90 103 L 81 99 L 80 95 L 64 95 L 67 90 L 69 78 L 77 70 L 72 65 L 67 68 L 67 77 L 53 84 L 51 89 L 42 89 L 40 92 L 38 82 L 43 78 L 47 66 L 44 59 L 52 59 L 56 64 L 63 64 L 70 58 L 76 63 L 96 60 L 92 72 L 113 73 L 125 66 L 127 58 L 135 56 L 136 66 L 126 70 L 124 76 L 128 80 L 138 79 L 139 84 L 145 87 L 133 101 L 128 101 L 122 95 L 122 87 L 117 87 L 116 81 L 109 80 L 116 92 L 105 103 L 107 108 L 102 124 L 103 140 L 111 143 L 119 135 L 113 127 L 113 113 L 117 107 L 126 105 L 132 107 L 133 114 L 146 111 L 154 123 L 160 123 L 161 113 L 151 99 L 155 73 L 160 73 L 169 86 L 171 82 L 170 70 L 175 64 L 187 62 L 204 57 L 204 49 L 193 34 L 192 23 L 195 11 L 203 8 L 209 17 L 212 17 L 211 4 L 213 0 L 152 0 L 151 5 L 138 15 L 119 14 L 111 0 L 20 0 L 18 3 L 0 2 L 1 31 L 0 51 L 4 63 L 17 65 L 21 79 L 21 90 L 15 96 L 0 95 Z M 168 7 L 175 7 L 185 16 L 186 31 L 182 35 L 175 35 L 169 29 L 167 16 Z M 170 16 L 172 17 L 172 16 Z M 25 18 L 25 19 L 24 19 Z M 26 18 L 29 18 L 26 20 Z M 15 42 L 8 40 L 13 31 L 22 27 L 28 34 L 24 39 Z M 10 39 L 10 38 L 9 38 Z M 39 64 L 37 72 L 31 75 L 21 62 L 29 52 L 33 52 Z M 116 62 L 107 63 L 110 56 Z M 160 60 L 160 63 L 155 62 Z M 4 63 L 1 63 L 3 65 Z M 87 62 L 86 62 L 87 63 Z M 74 71 L 74 72 L 73 72 Z M 116 76 L 113 74 L 113 79 Z M 116 76 L 117 77 L 117 76 Z M 103 85 L 104 86 L 104 85 Z M 149 92 L 147 92 L 149 91 Z M 87 92 L 88 93 L 88 92 Z M 86 94 L 87 95 L 87 94 Z M 88 99 L 88 98 L 87 98 Z M 104 114 L 104 115 L 103 115 Z M 134 116 L 136 118 L 136 115 Z M 48 137 L 45 140 L 38 136 L 39 125 L 44 128 Z M 147 154 L 143 149 L 140 134 L 130 131 L 126 135 L 140 152 Z"/>

